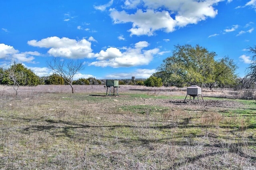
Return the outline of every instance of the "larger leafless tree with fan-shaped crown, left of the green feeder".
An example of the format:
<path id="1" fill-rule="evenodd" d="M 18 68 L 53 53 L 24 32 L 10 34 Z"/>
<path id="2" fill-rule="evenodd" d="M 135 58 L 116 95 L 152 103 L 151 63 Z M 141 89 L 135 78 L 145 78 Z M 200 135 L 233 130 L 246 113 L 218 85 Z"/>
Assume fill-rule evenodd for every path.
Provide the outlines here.
<path id="1" fill-rule="evenodd" d="M 72 86 L 74 75 L 83 69 L 82 62 L 75 62 L 74 60 L 60 59 L 60 57 L 54 57 L 52 61 L 47 62 L 48 67 L 50 67 L 56 74 L 60 75 L 66 83 L 68 83 L 72 88 L 72 93 L 74 93 L 74 87 Z"/>

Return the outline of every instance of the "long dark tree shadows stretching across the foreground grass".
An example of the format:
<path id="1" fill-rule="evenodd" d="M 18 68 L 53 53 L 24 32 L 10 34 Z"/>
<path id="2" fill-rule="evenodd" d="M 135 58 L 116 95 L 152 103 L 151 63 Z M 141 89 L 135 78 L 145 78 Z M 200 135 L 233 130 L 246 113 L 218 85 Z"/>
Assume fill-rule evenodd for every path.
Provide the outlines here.
<path id="1" fill-rule="evenodd" d="M 106 125 L 106 126 L 92 126 L 92 125 L 83 125 L 83 124 L 77 124 L 77 123 L 73 123 L 73 122 L 69 122 L 69 121 L 55 121 L 55 120 L 45 120 L 46 123 L 50 123 L 49 126 L 42 126 L 42 125 L 33 125 L 30 127 L 26 127 L 23 129 L 24 133 L 32 133 L 32 132 L 36 132 L 36 131 L 49 131 L 53 130 L 53 129 L 60 129 L 60 133 L 62 133 L 63 135 L 69 137 L 69 138 L 74 138 L 74 135 L 71 133 L 69 133 L 69 130 L 71 129 L 76 129 L 76 128 L 120 128 L 120 127 L 124 127 L 124 128 L 145 128 L 145 129 L 169 129 L 169 128 L 192 128 L 192 127 L 199 127 L 199 128 L 209 128 L 211 126 L 202 126 L 202 125 L 188 125 L 190 120 L 192 119 L 192 117 L 186 118 L 184 119 L 183 122 L 181 122 L 180 124 L 177 125 L 159 125 L 159 126 L 132 126 L 132 125 Z M 64 125 L 64 126 L 63 126 Z M 215 127 L 215 126 L 212 126 Z M 230 128 L 230 127 L 220 127 L 220 128 Z M 256 125 L 251 125 L 250 127 L 246 127 L 246 128 L 256 128 Z M 239 129 L 236 129 L 239 130 Z M 54 134 L 54 133 L 53 133 Z M 54 134 L 56 136 L 56 134 Z M 172 144 L 175 146 L 197 146 L 197 143 L 194 143 L 193 140 L 194 138 L 212 138 L 212 139 L 216 139 L 218 141 L 219 136 L 216 135 L 211 135 L 209 134 L 209 136 L 205 136 L 205 135 L 196 135 L 196 134 L 190 134 L 190 135 L 185 135 L 185 134 L 178 134 L 177 136 L 173 137 L 173 136 L 167 136 L 164 138 L 146 138 L 145 135 L 141 135 L 141 136 L 137 136 L 137 138 L 126 138 L 125 135 L 124 136 L 113 136 L 113 135 L 102 135 L 100 134 L 100 136 L 102 138 L 113 138 L 116 139 L 118 138 L 118 141 L 123 143 L 124 145 L 133 148 L 134 144 L 136 145 L 141 145 L 143 147 L 150 147 L 150 144 Z M 192 142 L 190 142 L 190 140 Z M 228 140 L 232 140 L 234 141 L 234 139 L 230 138 Z M 94 141 L 96 143 L 94 144 L 98 144 L 98 145 L 102 145 L 102 142 L 98 142 Z M 185 157 L 182 158 L 180 160 L 176 160 L 176 162 L 172 162 L 171 166 L 169 167 L 169 169 L 177 169 L 179 167 L 184 166 L 185 164 L 193 164 L 196 161 L 199 161 L 202 158 L 206 158 L 208 156 L 214 156 L 214 155 L 221 155 L 221 154 L 226 154 L 226 153 L 235 153 L 243 158 L 249 158 L 250 159 L 250 163 L 253 165 L 256 163 L 256 157 L 255 156 L 251 156 L 249 154 L 246 154 L 243 152 L 242 150 L 242 146 L 255 146 L 255 139 L 252 138 L 250 140 L 246 140 L 246 141 L 235 141 L 235 142 L 219 142 L 219 143 L 214 143 L 214 144 L 205 144 L 202 143 L 200 144 L 200 147 L 204 147 L 207 148 L 206 150 L 208 150 L 207 152 L 204 152 L 202 154 L 196 155 L 196 156 L 192 156 L 192 157 Z M 104 144 L 103 144 L 104 145 Z"/>

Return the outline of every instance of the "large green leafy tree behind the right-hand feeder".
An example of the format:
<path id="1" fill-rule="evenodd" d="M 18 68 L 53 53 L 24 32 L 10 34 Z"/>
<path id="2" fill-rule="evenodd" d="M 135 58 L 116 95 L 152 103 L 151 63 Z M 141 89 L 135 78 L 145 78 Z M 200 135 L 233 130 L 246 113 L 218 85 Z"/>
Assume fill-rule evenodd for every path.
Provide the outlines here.
<path id="1" fill-rule="evenodd" d="M 236 78 L 236 65 L 228 57 L 214 60 L 215 52 L 196 45 L 175 45 L 172 56 L 164 59 L 154 76 L 162 78 L 164 85 L 231 84 Z M 228 81 L 226 81 L 228 79 Z"/>

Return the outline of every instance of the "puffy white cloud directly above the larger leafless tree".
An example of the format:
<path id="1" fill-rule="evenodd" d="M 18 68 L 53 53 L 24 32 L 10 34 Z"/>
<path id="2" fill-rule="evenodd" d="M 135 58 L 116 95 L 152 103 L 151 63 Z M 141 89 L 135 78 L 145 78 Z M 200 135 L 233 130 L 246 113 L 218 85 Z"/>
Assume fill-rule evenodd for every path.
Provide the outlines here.
<path id="1" fill-rule="evenodd" d="M 85 39 L 77 41 L 66 37 L 48 37 L 40 41 L 30 40 L 28 44 L 34 47 L 50 48 L 48 53 L 54 57 L 70 59 L 92 57 L 91 42 Z"/>

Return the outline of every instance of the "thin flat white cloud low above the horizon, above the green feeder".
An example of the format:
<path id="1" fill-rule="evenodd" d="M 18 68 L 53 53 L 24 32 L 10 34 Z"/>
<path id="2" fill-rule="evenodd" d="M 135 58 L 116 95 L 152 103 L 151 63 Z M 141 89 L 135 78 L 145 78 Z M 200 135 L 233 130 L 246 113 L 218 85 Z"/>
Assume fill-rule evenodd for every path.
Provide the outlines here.
<path id="1" fill-rule="evenodd" d="M 132 73 L 112 73 L 106 75 L 107 79 L 132 79 L 135 77 L 137 79 L 147 79 L 156 72 L 156 69 L 136 69 L 136 71 Z"/>

